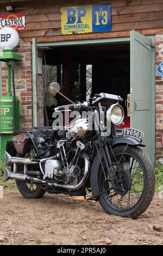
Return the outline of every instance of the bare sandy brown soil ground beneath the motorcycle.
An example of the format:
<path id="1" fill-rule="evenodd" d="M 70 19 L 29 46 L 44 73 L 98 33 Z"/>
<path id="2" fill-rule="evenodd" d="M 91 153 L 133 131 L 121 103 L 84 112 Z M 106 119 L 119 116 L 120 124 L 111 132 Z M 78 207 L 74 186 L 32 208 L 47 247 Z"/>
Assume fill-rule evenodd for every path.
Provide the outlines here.
<path id="1" fill-rule="evenodd" d="M 163 198 L 137 220 L 108 215 L 99 203 L 45 194 L 25 199 L 6 188 L 0 199 L 0 245 L 161 245 Z"/>

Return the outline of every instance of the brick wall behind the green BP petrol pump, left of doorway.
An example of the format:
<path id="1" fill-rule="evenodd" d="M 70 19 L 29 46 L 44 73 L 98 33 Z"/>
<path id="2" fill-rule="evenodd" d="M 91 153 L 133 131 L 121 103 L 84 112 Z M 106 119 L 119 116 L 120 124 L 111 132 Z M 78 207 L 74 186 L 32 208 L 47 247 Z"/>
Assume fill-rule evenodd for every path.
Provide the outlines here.
<path id="1" fill-rule="evenodd" d="M 32 129 L 32 59 L 29 42 L 22 42 L 15 48 L 22 56 L 22 62 L 15 65 L 16 96 L 20 100 L 20 129 Z M 2 95 L 7 94 L 7 64 L 2 63 Z"/>

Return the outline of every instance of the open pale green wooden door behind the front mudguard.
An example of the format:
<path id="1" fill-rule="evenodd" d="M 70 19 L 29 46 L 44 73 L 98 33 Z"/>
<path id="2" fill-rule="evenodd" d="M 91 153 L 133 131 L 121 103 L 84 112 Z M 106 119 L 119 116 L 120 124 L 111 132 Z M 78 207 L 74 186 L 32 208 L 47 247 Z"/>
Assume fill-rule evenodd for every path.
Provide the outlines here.
<path id="1" fill-rule="evenodd" d="M 147 36 L 130 32 L 130 127 L 145 133 L 145 151 L 154 161 L 153 45 Z M 153 97 L 153 98 L 152 98 Z"/>

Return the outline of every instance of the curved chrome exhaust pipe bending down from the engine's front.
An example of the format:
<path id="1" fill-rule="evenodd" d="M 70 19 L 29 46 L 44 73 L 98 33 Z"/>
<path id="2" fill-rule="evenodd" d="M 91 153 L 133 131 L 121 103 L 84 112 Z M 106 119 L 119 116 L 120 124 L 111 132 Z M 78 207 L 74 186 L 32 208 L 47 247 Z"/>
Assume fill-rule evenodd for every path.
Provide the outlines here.
<path id="1" fill-rule="evenodd" d="M 82 180 L 80 180 L 80 182 L 77 185 L 70 185 L 70 184 L 58 184 L 58 183 L 50 183 L 48 182 L 48 186 L 52 186 L 52 187 L 58 187 L 58 188 L 64 188 L 66 190 L 79 190 L 79 188 L 83 187 L 83 185 L 85 184 L 87 175 L 89 173 L 90 170 L 90 161 L 89 161 L 89 157 L 85 156 L 84 157 L 84 161 L 85 161 L 85 171 L 84 171 L 84 175 Z"/>

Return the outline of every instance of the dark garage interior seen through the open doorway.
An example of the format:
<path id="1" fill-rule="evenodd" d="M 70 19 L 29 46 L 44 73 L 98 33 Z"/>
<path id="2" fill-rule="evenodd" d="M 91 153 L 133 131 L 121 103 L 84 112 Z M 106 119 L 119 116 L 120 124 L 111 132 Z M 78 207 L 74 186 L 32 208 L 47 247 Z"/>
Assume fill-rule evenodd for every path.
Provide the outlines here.
<path id="1" fill-rule="evenodd" d="M 51 47 L 43 52 L 44 67 L 56 68 L 55 78 L 46 80 L 45 87 L 52 81 L 59 82 L 61 92 L 74 102 L 87 100 L 101 92 L 120 95 L 127 115 L 125 101 L 130 93 L 128 43 Z M 60 95 L 55 96 L 54 102 L 54 105 L 69 103 Z M 45 105 L 47 109 L 54 109 L 52 102 L 45 102 Z M 47 112 L 49 116 L 51 111 Z"/>

